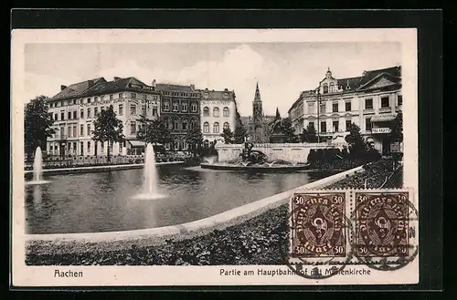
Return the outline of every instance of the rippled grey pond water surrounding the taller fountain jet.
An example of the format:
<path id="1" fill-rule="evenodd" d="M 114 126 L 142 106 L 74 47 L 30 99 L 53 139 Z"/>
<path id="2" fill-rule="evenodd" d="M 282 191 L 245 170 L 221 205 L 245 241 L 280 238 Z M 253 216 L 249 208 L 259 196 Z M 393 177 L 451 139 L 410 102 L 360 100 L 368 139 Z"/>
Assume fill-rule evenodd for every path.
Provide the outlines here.
<path id="1" fill-rule="evenodd" d="M 43 176 L 26 185 L 27 233 L 99 233 L 197 221 L 331 175 L 329 172 L 250 174 L 200 167 L 157 170 L 166 197 L 135 199 L 143 170 Z"/>

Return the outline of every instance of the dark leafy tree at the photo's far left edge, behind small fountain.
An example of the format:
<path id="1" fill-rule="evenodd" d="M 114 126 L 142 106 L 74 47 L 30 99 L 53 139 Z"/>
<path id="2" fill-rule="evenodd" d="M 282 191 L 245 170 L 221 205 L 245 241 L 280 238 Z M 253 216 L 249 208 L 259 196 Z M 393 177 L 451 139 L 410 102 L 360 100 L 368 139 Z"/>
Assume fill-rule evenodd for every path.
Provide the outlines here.
<path id="1" fill-rule="evenodd" d="M 38 96 L 27 103 L 24 118 L 24 148 L 27 160 L 31 159 L 38 146 L 46 147 L 46 140 L 55 133 L 50 127 L 54 123 L 48 113 L 45 96 Z"/>

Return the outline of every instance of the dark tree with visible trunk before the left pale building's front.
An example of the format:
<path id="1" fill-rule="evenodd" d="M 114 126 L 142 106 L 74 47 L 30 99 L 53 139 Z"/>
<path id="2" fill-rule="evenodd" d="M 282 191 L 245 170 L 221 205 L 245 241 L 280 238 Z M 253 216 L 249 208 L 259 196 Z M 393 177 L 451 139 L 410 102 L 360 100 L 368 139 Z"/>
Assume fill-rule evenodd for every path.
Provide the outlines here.
<path id="1" fill-rule="evenodd" d="M 123 142 L 122 121 L 116 118 L 116 113 L 110 108 L 101 110 L 93 122 L 92 140 L 108 142 L 108 162 L 111 161 L 111 149 L 114 142 Z"/>

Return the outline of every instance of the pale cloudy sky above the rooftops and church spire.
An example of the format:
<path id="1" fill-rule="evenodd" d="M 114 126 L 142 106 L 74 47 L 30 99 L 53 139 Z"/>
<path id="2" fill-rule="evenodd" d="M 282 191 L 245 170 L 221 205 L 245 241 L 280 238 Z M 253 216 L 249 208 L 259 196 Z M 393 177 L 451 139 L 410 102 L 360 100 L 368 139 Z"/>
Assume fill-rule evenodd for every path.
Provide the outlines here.
<path id="1" fill-rule="evenodd" d="M 241 116 L 252 114 L 256 83 L 263 110 L 282 117 L 300 92 L 317 88 L 327 71 L 334 78 L 401 64 L 395 42 L 365 43 L 189 43 L 189 44 L 27 44 L 25 102 L 52 97 L 60 85 L 103 77 L 134 77 L 234 90 Z"/>

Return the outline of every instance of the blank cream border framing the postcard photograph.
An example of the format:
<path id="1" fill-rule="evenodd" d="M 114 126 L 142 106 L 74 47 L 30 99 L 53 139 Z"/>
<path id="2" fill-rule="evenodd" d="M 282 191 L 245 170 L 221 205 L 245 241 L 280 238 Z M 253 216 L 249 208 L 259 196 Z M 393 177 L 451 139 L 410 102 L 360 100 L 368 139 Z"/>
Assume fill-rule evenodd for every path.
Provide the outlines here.
<path id="1" fill-rule="evenodd" d="M 107 30 L 16 29 L 12 32 L 11 158 L 12 158 L 12 284 L 15 286 L 104 285 L 245 285 L 245 284 L 415 284 L 416 259 L 395 272 L 371 271 L 369 276 L 333 276 L 306 280 L 289 276 L 220 275 L 225 270 L 287 270 L 286 266 L 27 266 L 25 264 L 24 107 L 25 45 L 27 43 L 229 43 L 229 42 L 386 42 L 402 45 L 404 116 L 404 186 L 419 199 L 417 30 L 377 29 L 236 29 L 236 30 Z M 419 257 L 419 256 L 418 256 Z M 350 266 L 356 269 L 364 266 Z M 82 271 L 82 277 L 54 277 L 55 270 Z M 257 271 L 256 271 L 257 272 Z"/>

